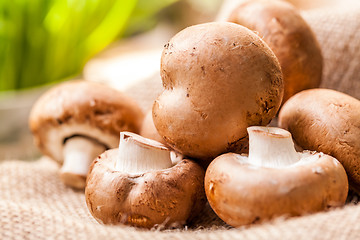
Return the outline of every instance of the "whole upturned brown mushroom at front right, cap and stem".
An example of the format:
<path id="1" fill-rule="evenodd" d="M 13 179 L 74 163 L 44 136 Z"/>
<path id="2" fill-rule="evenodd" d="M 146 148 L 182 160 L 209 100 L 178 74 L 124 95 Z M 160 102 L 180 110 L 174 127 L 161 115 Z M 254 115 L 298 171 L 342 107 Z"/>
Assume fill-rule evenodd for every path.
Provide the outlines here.
<path id="1" fill-rule="evenodd" d="M 223 154 L 205 175 L 209 203 L 226 223 L 238 227 L 345 203 L 347 177 L 335 158 L 296 152 L 291 134 L 280 128 L 248 131 L 249 155 Z"/>

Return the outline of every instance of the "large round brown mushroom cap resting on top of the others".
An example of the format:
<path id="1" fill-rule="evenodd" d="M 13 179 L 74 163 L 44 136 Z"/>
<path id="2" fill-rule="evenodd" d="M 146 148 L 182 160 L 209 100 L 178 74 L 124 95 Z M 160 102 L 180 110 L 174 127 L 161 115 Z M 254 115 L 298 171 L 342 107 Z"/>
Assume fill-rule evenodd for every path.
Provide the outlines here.
<path id="1" fill-rule="evenodd" d="M 267 125 L 283 95 L 273 52 L 234 23 L 179 32 L 165 45 L 161 77 L 165 89 L 153 105 L 160 136 L 176 151 L 206 161 L 246 151 L 246 128 Z"/>

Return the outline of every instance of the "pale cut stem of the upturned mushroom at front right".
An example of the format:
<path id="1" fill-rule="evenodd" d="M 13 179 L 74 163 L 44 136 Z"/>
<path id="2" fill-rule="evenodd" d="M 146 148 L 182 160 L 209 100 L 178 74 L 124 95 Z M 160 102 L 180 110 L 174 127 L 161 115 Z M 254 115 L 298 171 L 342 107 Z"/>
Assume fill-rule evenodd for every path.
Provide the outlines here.
<path id="1" fill-rule="evenodd" d="M 262 167 L 284 167 L 300 160 L 291 134 L 275 127 L 249 127 L 249 163 Z"/>

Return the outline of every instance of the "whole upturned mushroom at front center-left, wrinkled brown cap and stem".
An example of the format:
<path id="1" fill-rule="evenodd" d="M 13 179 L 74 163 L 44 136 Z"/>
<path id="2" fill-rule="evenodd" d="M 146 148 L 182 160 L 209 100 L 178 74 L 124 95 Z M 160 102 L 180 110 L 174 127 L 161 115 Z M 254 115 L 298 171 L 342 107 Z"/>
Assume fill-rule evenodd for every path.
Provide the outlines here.
<path id="1" fill-rule="evenodd" d="M 119 149 L 93 162 L 85 197 L 101 223 L 170 227 L 199 213 L 205 202 L 203 183 L 204 170 L 195 162 L 173 165 L 165 145 L 122 132 Z"/>

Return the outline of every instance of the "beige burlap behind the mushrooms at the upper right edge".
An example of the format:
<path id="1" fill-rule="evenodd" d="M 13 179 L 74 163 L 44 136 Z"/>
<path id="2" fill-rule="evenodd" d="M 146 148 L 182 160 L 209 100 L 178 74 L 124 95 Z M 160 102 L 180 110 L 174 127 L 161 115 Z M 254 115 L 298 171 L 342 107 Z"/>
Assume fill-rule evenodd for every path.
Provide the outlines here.
<path id="1" fill-rule="evenodd" d="M 360 98 L 360 2 L 303 12 L 324 58 L 321 87 Z"/>

